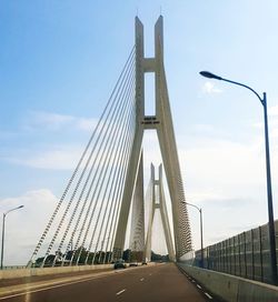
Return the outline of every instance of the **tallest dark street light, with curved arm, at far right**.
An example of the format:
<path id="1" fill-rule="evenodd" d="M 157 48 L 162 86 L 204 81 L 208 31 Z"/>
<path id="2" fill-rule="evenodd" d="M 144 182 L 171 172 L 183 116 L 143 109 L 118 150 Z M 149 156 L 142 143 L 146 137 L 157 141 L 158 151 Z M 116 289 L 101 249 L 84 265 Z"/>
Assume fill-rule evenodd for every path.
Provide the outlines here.
<path id="1" fill-rule="evenodd" d="M 216 76 L 209 71 L 201 71 L 202 77 L 222 80 L 232 84 L 241 85 L 250 91 L 252 91 L 257 98 L 260 100 L 264 108 L 264 121 L 265 121 L 265 144 L 266 144 L 266 172 L 267 172 L 267 200 L 268 200 L 268 231 L 269 231 L 269 249 L 270 249 L 270 265 L 271 265 L 271 275 L 272 283 L 278 284 L 277 275 L 277 258 L 276 258 L 276 238 L 275 238 L 275 220 L 274 220 L 274 203 L 272 203 L 272 190 L 271 190 L 271 172 L 270 172 L 270 154 L 269 154 L 269 138 L 268 138 L 268 115 L 267 115 L 267 93 L 262 93 L 262 98 L 249 85 L 235 82 L 228 79 L 224 79 L 219 76 Z"/>

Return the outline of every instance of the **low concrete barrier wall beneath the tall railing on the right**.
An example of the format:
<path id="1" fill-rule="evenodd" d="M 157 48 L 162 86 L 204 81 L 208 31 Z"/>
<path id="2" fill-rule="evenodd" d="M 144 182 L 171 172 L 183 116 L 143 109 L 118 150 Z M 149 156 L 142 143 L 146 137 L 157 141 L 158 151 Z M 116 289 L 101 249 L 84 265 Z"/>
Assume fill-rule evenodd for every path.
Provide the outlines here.
<path id="1" fill-rule="evenodd" d="M 178 263 L 208 291 L 227 302 L 278 301 L 278 286 Z"/>

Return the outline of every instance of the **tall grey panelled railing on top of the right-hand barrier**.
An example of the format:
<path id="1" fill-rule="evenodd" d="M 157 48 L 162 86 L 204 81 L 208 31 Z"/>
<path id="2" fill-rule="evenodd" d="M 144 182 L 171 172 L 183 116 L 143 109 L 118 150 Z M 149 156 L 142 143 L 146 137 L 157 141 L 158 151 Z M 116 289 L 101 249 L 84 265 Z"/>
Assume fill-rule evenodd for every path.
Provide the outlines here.
<path id="1" fill-rule="evenodd" d="M 275 229 L 277 238 L 278 220 L 275 221 Z M 278 242 L 276 250 L 278 254 Z M 200 266 L 200 260 L 201 251 L 198 250 L 193 265 Z M 205 248 L 203 268 L 271 283 L 268 224 Z"/>

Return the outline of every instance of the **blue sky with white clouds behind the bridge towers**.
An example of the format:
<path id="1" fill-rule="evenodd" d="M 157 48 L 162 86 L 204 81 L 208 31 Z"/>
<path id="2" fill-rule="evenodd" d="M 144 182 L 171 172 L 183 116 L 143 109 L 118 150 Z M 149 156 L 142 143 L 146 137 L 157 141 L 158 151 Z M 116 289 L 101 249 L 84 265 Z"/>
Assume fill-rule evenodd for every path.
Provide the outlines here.
<path id="1" fill-rule="evenodd" d="M 261 104 L 247 90 L 201 78 L 200 70 L 267 92 L 277 218 L 277 11 L 275 0 L 2 0 L 0 212 L 24 204 L 7 221 L 7 261 L 24 263 L 42 232 L 133 46 L 137 13 L 148 57 L 163 16 L 185 191 L 203 209 L 206 245 L 266 223 L 267 200 Z M 148 99 L 151 113 L 151 93 Z M 159 162 L 156 152 L 149 150 L 146 170 L 148 161 Z M 198 213 L 189 211 L 199 248 Z M 12 254 L 19 246 L 21 258 Z"/>

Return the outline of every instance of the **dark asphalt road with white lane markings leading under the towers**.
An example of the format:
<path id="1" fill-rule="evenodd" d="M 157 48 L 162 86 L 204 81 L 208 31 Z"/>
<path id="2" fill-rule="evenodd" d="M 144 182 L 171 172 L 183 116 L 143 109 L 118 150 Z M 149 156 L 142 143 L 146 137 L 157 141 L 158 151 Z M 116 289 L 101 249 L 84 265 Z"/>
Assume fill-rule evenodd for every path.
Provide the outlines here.
<path id="1" fill-rule="evenodd" d="M 9 302 L 200 302 L 217 301 L 173 263 L 117 270 L 107 275 L 85 276 L 38 289 L 10 292 L 0 301 Z"/>

